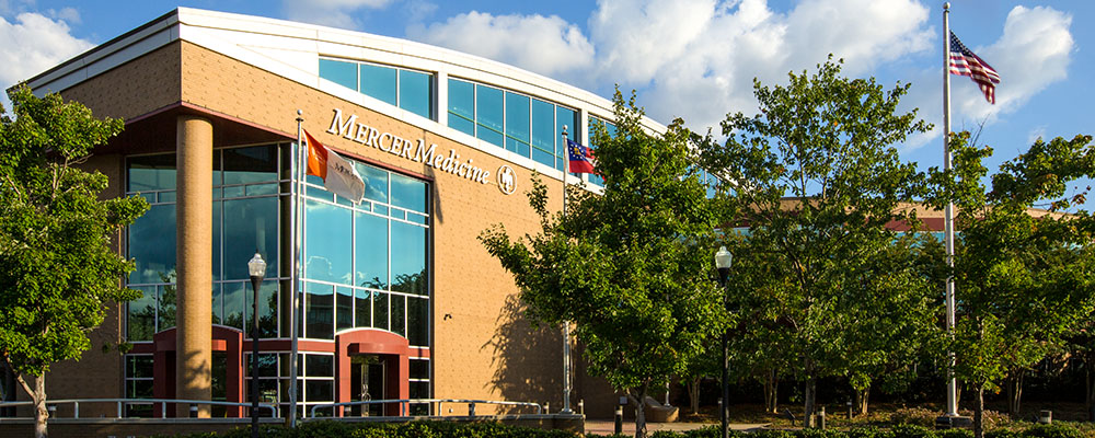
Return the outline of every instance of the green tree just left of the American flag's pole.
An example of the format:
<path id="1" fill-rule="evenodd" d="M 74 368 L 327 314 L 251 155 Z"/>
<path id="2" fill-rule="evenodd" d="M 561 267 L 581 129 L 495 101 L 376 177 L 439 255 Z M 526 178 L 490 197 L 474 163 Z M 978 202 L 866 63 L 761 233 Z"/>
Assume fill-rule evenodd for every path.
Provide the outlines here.
<path id="1" fill-rule="evenodd" d="M 868 262 L 896 238 L 887 223 L 914 223 L 914 209 L 902 203 L 924 187 L 915 164 L 902 163 L 892 147 L 929 129 L 915 111 L 896 113 L 908 85 L 884 90 L 874 79 L 842 78 L 841 64 L 830 57 L 814 74 L 792 72 L 785 87 L 754 81 L 761 114 L 730 115 L 725 142 L 701 141 L 704 165 L 737 182 L 719 197 L 722 221 L 748 226 L 746 247 L 768 252 L 777 276 L 765 280 L 771 288 L 733 281 L 730 300 L 757 315 L 749 321 L 782 325 L 779 342 L 806 381 L 807 419 L 816 380 L 848 370 L 854 326 L 845 315 L 868 293 L 861 285 Z"/>

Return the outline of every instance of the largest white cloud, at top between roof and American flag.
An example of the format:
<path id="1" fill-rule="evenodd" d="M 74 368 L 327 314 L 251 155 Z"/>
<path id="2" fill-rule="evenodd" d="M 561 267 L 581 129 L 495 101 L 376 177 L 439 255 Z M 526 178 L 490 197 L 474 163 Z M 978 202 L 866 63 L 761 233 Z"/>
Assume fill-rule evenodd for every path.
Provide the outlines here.
<path id="1" fill-rule="evenodd" d="M 808 0 L 786 13 L 764 0 L 603 0 L 590 19 L 604 81 L 649 87 L 658 119 L 717 126 L 756 112 L 752 80 L 782 83 L 828 54 L 855 76 L 931 46 L 927 8 L 913 0 Z M 862 23 L 871 23 L 864 26 Z"/>

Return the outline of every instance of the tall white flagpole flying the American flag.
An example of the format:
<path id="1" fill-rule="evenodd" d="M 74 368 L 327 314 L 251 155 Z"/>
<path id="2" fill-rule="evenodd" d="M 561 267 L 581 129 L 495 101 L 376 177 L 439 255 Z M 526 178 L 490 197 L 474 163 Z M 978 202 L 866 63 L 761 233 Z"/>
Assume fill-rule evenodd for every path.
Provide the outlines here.
<path id="1" fill-rule="evenodd" d="M 950 3 L 943 3 L 943 169 L 950 171 Z M 947 246 L 947 266 L 955 266 L 954 201 L 947 199 L 943 214 L 944 239 Z M 947 276 L 946 283 L 947 334 L 955 333 L 955 279 Z M 947 350 L 947 412 L 946 416 L 958 415 L 957 382 L 955 381 L 955 351 Z"/>

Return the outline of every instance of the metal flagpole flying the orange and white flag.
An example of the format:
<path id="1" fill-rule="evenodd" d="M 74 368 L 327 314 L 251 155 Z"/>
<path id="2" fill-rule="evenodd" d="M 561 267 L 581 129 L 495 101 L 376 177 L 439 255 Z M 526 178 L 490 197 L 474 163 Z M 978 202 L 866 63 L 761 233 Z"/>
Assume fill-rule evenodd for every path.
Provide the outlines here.
<path id="1" fill-rule="evenodd" d="M 298 290 L 300 287 L 299 286 L 300 285 L 300 232 L 299 232 L 300 174 L 299 172 L 300 168 L 303 166 L 303 161 L 301 160 L 301 157 L 303 157 L 304 152 L 304 143 L 302 141 L 302 134 L 301 134 L 303 131 L 303 128 L 301 127 L 301 124 L 304 122 L 304 118 L 302 117 L 303 114 L 304 114 L 303 111 L 297 110 L 297 150 L 292 154 L 292 159 L 289 160 L 289 173 L 290 173 L 289 199 L 292 203 L 291 204 L 292 218 L 290 220 L 291 222 L 290 227 L 292 227 L 292 231 L 290 232 L 292 238 L 292 251 L 291 251 L 291 256 L 289 258 L 290 267 L 292 270 L 292 273 L 289 275 L 290 278 L 289 281 L 292 284 L 289 287 L 289 291 L 290 293 L 292 293 L 292 298 L 290 299 L 292 312 L 290 316 L 291 322 L 289 323 L 289 338 L 291 339 L 291 350 L 292 350 L 292 353 L 289 355 L 289 405 L 290 405 L 289 427 L 290 428 L 297 427 L 297 378 L 298 378 L 297 374 L 299 370 L 299 365 L 297 364 L 297 357 L 299 356 L 298 354 L 299 346 L 297 339 L 300 337 L 300 334 L 297 333 L 298 314 L 300 313 L 298 310 L 300 309 L 300 304 L 297 302 L 298 298 L 300 297 L 300 291 Z M 298 163 L 300 165 L 298 165 Z"/>

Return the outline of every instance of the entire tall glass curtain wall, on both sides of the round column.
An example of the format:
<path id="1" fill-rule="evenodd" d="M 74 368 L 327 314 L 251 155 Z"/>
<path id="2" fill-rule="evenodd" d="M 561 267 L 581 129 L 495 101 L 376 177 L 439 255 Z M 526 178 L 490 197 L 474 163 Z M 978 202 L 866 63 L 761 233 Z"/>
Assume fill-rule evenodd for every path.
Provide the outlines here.
<path id="1" fill-rule="evenodd" d="M 289 336 L 288 290 L 283 290 L 289 277 L 280 275 L 289 267 L 280 266 L 280 258 L 288 254 L 290 242 L 279 235 L 289 227 L 290 187 L 284 175 L 291 149 L 265 145 L 214 152 L 210 311 L 215 324 L 244 331 L 245 337 L 253 299 L 246 261 L 256 250 L 267 261 L 260 290 L 260 335 Z M 300 337 L 333 339 L 339 331 L 372 327 L 400 334 L 412 346 L 428 347 L 429 187 L 379 168 L 356 165 L 367 182 L 366 199 L 356 205 L 326 192 L 318 177 L 309 176 L 306 183 Z M 130 157 L 127 174 L 127 192 L 152 205 L 129 227 L 127 239 L 128 256 L 137 267 L 129 287 L 143 291 L 143 297 L 127 306 L 126 336 L 131 343 L 146 343 L 175 325 L 175 155 Z M 264 353 L 260 361 L 263 400 L 288 402 L 288 354 Z M 307 415 L 308 405 L 334 401 L 334 356 L 304 354 L 300 364 L 298 393 Z M 429 361 L 412 364 L 411 396 L 428 397 Z M 244 368 L 250 400 L 253 379 L 249 366 Z M 127 397 L 151 396 L 151 356 L 127 356 L 126 376 Z M 222 387 L 223 379 L 215 379 L 215 384 L 218 381 Z M 223 400 L 223 388 L 214 392 Z M 412 407 L 419 413 L 425 408 Z"/>

